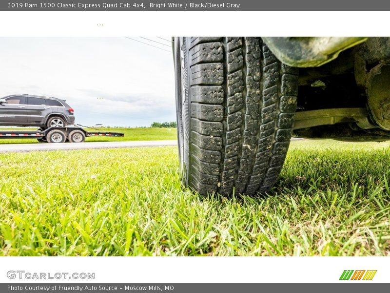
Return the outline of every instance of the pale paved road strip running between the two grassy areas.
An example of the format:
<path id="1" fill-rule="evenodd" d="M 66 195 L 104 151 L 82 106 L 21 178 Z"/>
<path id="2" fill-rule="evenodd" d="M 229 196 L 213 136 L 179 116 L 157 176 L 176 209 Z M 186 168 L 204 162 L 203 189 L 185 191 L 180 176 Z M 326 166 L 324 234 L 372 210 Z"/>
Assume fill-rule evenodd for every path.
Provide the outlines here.
<path id="1" fill-rule="evenodd" d="M 118 148 L 140 146 L 176 146 L 176 141 L 140 141 L 140 142 L 97 142 L 97 143 L 64 143 L 64 144 L 2 144 L 0 152 L 86 149 L 86 148 Z"/>

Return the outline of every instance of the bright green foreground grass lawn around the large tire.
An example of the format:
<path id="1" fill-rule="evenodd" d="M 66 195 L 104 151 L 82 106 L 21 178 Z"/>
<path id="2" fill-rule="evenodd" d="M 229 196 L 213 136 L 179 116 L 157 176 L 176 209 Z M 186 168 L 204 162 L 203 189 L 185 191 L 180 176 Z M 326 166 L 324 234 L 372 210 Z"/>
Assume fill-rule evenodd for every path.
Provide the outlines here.
<path id="1" fill-rule="evenodd" d="M 175 147 L 0 154 L 0 254 L 390 256 L 389 146 L 293 141 L 259 198 L 182 189 Z"/>

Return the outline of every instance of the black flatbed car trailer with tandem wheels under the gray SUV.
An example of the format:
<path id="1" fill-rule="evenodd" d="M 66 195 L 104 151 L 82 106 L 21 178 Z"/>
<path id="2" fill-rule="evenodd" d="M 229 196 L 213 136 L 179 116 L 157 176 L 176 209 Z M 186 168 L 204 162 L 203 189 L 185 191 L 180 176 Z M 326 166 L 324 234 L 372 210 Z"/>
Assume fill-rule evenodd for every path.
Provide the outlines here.
<path id="1" fill-rule="evenodd" d="M 42 143 L 64 143 L 67 140 L 71 143 L 82 143 L 87 136 L 124 136 L 124 133 L 119 132 L 88 132 L 78 126 L 63 126 L 39 128 L 35 131 L 7 131 L 0 130 L 0 139 L 12 138 L 36 138 Z"/>

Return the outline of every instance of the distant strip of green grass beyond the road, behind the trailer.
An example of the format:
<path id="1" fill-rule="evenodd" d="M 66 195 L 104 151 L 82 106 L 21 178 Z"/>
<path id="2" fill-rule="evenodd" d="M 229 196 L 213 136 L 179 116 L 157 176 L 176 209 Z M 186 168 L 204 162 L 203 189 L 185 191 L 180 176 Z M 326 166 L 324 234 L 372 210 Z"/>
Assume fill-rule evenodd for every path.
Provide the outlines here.
<path id="1" fill-rule="evenodd" d="M 35 130 L 35 128 L 0 128 L 0 130 Z M 87 137 L 86 142 L 127 142 L 149 140 L 176 140 L 176 128 L 85 128 L 89 132 L 111 131 L 124 133 L 124 137 Z M 0 139 L 1 144 L 37 144 L 36 139 Z"/>

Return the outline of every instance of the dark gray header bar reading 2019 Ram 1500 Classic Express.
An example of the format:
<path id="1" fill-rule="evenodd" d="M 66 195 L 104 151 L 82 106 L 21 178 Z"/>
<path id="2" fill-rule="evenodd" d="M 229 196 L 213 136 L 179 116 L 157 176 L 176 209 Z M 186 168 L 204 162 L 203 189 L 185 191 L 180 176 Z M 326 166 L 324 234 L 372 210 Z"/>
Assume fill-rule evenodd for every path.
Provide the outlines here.
<path id="1" fill-rule="evenodd" d="M 376 11 L 390 10 L 390 1 L 383 0 L 5 0 L 0 10 L 20 11 Z M 331 12 L 330 12 L 331 21 Z"/>

